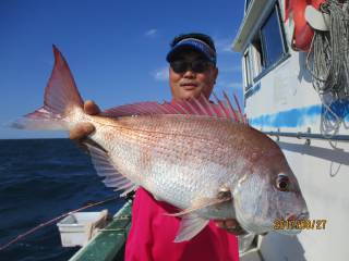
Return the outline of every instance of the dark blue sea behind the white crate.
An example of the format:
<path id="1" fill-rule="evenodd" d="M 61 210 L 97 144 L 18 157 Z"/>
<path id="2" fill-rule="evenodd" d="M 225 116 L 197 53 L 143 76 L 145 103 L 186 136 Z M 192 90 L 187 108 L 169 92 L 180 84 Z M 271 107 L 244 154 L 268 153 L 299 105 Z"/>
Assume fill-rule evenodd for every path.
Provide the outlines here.
<path id="1" fill-rule="evenodd" d="M 69 139 L 0 140 L 0 248 L 62 213 L 112 196 L 88 154 Z M 85 211 L 113 214 L 123 203 L 116 197 Z M 53 223 L 0 250 L 0 260 L 68 260 L 77 250 L 61 246 Z"/>

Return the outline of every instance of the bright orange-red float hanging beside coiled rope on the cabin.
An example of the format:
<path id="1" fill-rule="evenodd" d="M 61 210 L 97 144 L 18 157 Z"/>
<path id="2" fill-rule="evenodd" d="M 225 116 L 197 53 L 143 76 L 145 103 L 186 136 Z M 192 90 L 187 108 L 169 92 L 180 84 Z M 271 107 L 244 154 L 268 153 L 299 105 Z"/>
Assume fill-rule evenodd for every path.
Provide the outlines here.
<path id="1" fill-rule="evenodd" d="M 313 5 L 316 10 L 326 0 L 286 0 L 285 22 L 292 16 L 294 29 L 291 37 L 291 47 L 296 51 L 308 51 L 312 42 L 314 30 L 305 20 L 306 5 Z"/>

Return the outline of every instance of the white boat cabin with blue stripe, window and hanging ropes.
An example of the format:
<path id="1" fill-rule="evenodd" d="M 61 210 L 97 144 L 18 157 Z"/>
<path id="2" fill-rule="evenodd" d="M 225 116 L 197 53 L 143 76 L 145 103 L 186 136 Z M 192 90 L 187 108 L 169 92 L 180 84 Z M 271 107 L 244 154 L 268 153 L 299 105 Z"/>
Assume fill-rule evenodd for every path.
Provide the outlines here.
<path id="1" fill-rule="evenodd" d="M 347 1 L 245 1 L 232 44 L 241 53 L 244 112 L 282 149 L 310 220 L 297 224 L 296 237 L 256 237 L 241 260 L 348 260 L 347 14 Z M 275 221 L 275 228 L 290 224 Z"/>

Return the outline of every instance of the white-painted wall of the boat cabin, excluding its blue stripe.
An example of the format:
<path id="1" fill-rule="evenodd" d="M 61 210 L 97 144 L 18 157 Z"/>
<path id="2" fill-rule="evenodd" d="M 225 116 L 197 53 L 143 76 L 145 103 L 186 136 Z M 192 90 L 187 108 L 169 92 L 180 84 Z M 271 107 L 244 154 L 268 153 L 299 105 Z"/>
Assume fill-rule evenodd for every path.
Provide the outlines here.
<path id="1" fill-rule="evenodd" d="M 269 1 L 274 2 L 274 1 Z M 278 1 L 285 21 L 284 1 Z M 270 7 L 261 16 L 267 15 Z M 260 28 L 260 17 L 251 30 L 248 42 Z M 286 24 L 285 33 L 290 36 L 292 25 Z M 246 50 L 249 45 L 245 46 Z M 311 76 L 305 69 L 305 52 L 289 48 L 289 57 L 270 72 L 261 77 L 252 88 L 261 85 L 245 100 L 244 112 L 248 119 L 278 115 L 293 109 L 321 107 L 321 99 L 314 90 Z M 246 90 L 244 90 L 244 94 Z M 348 120 L 348 119 L 347 119 Z M 252 124 L 253 125 L 253 124 Z M 347 125 L 348 122 L 347 122 Z M 308 117 L 294 127 L 255 125 L 257 129 L 280 132 L 321 133 L 321 116 Z M 338 134 L 349 135 L 349 129 L 340 126 Z M 272 137 L 275 139 L 275 137 Z M 269 233 L 263 237 L 260 252 L 267 261 L 322 261 L 349 260 L 347 235 L 349 233 L 349 144 L 338 142 L 334 148 L 328 141 L 284 138 L 278 141 L 290 167 L 297 176 L 309 207 L 310 220 L 326 220 L 325 229 L 305 229 L 296 237 Z"/>

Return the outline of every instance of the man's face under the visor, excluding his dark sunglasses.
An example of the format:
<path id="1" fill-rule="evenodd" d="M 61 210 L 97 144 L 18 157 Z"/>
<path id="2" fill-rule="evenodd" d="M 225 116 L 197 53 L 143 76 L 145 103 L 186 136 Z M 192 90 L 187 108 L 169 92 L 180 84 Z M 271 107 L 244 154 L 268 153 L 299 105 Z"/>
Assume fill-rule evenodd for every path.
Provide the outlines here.
<path id="1" fill-rule="evenodd" d="M 176 61 L 202 61 L 203 55 L 192 50 L 182 51 L 176 57 Z M 169 67 L 169 80 L 172 97 L 174 100 L 185 100 L 190 98 L 198 98 L 203 94 L 207 99 L 213 91 L 218 70 L 214 65 L 209 65 L 202 73 L 194 72 L 191 67 L 183 73 L 176 73 Z"/>

